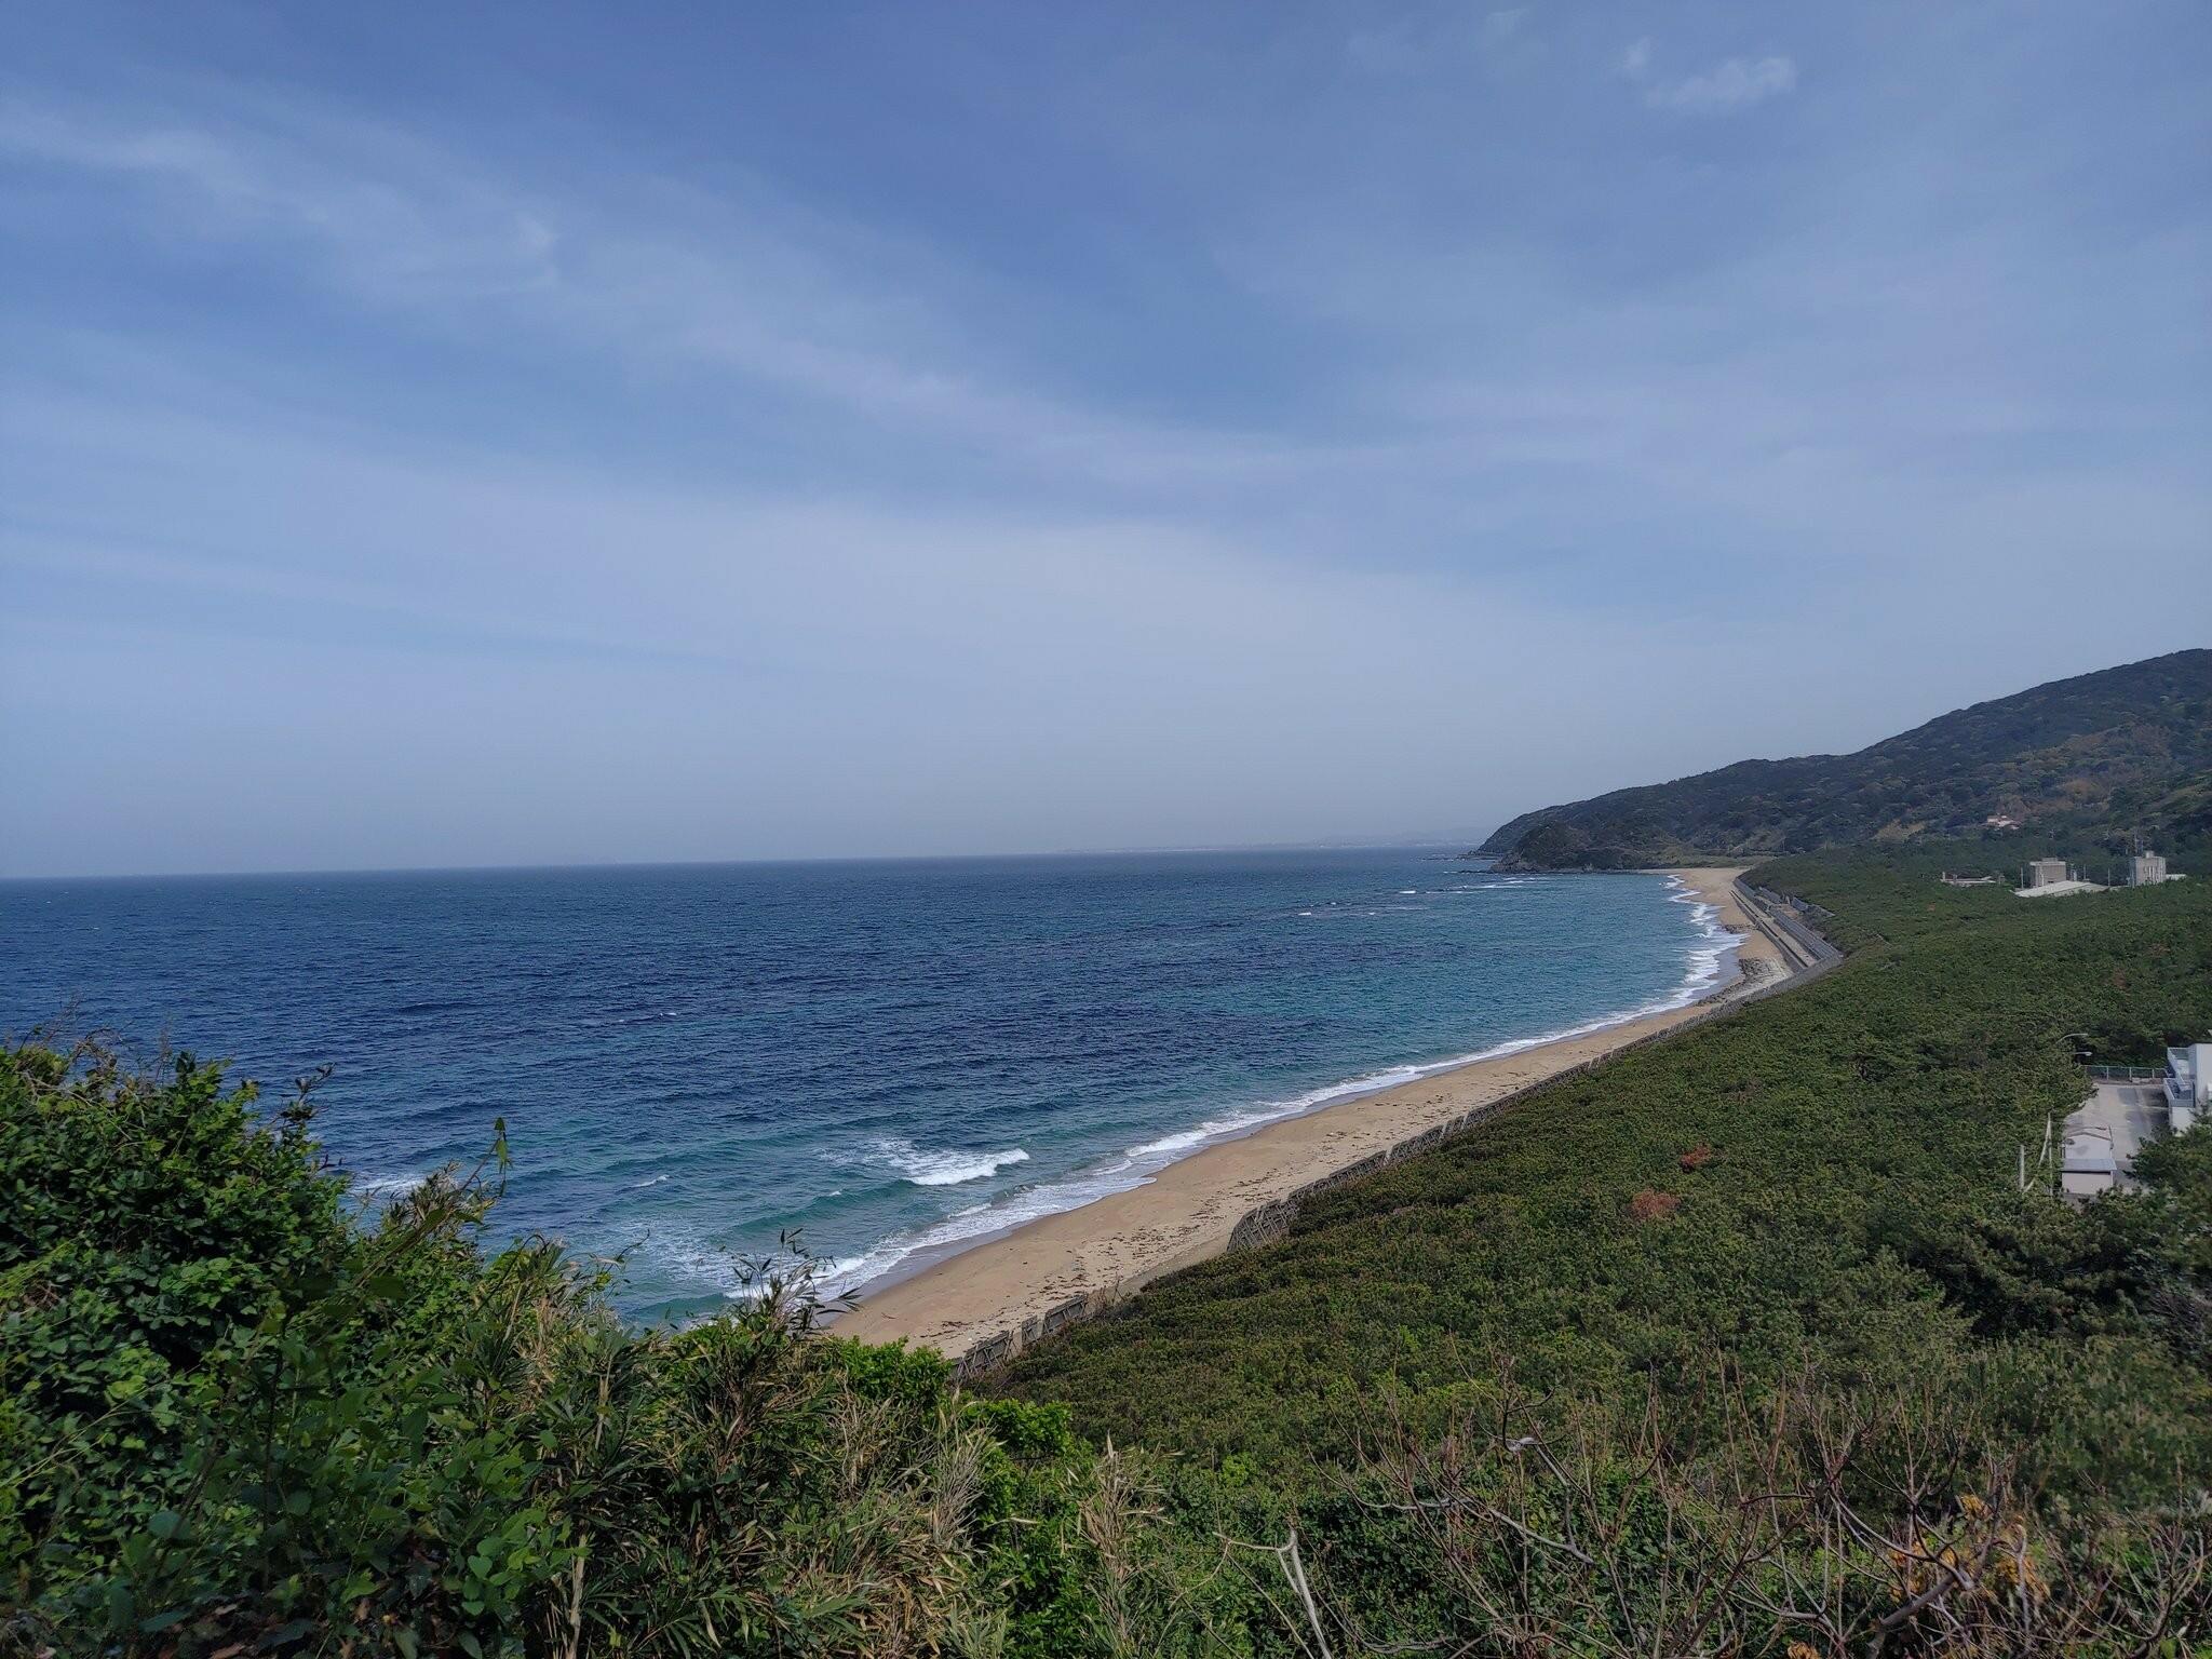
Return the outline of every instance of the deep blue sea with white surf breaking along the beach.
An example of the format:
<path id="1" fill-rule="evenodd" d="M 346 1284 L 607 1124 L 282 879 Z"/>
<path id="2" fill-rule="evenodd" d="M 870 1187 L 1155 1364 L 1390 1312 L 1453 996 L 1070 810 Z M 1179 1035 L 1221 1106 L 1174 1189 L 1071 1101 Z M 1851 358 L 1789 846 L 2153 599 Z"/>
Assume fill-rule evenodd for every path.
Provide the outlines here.
<path id="1" fill-rule="evenodd" d="M 1697 995 L 1659 876 L 1431 852 L 0 883 L 0 1029 L 69 1015 L 316 1099 L 365 1192 L 473 1161 L 500 1225 L 688 1314 L 796 1230 L 849 1287 L 1210 1137 Z"/>

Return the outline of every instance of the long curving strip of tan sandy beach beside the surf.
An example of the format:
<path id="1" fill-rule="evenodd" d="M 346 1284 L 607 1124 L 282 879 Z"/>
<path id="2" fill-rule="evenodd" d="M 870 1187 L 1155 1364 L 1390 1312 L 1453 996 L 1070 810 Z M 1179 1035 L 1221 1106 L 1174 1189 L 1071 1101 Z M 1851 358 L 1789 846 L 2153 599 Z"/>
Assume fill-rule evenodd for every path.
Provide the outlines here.
<path id="1" fill-rule="evenodd" d="M 1741 869 L 1674 869 L 1719 920 L 1739 933 L 1741 975 L 1719 995 L 1736 998 L 1790 964 L 1736 905 Z M 869 1343 L 909 1338 L 960 1356 L 1024 1327 L 1075 1296 L 1093 1303 L 1217 1256 L 1237 1221 L 1312 1181 L 1383 1152 L 1411 1135 L 1449 1124 L 1489 1102 L 1599 1060 L 1699 1013 L 1699 1004 L 1562 1037 L 1498 1060 L 1475 1060 L 1374 1095 L 1265 1124 L 1170 1164 L 1144 1186 L 1040 1217 L 867 1294 L 836 1321 L 838 1336 Z"/>

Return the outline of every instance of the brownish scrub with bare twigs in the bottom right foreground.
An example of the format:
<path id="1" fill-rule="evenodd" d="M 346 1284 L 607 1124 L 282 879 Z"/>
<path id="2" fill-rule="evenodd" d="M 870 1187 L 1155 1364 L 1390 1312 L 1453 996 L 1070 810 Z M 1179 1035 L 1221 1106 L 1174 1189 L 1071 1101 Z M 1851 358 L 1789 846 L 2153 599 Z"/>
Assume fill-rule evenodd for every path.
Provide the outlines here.
<path id="1" fill-rule="evenodd" d="M 1462 1655 L 2181 1655 L 2212 1615 L 2212 1509 L 2042 1502 L 2002 1433 L 1931 1374 L 1834 1394 L 1703 1378 L 1699 1411 L 1520 1394 L 1352 1486 L 1436 1584 Z M 1703 1425 L 1697 1427 L 1697 1425 Z M 1354 1650 L 1402 1650 L 1387 1604 Z"/>

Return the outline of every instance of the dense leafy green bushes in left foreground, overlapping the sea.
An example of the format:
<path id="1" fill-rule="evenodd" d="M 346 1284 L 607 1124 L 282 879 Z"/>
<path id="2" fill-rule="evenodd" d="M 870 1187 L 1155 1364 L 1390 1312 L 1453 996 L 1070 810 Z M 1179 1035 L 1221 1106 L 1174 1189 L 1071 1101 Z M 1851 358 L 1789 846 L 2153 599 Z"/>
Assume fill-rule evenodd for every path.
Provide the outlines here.
<path id="1" fill-rule="evenodd" d="M 356 1225 L 305 1097 L 252 1104 L 0 1053 L 15 1650 L 1060 1655 L 1161 1601 L 1064 1409 L 803 1285 L 626 1329 L 560 1248 L 478 1250 L 495 1166 Z"/>

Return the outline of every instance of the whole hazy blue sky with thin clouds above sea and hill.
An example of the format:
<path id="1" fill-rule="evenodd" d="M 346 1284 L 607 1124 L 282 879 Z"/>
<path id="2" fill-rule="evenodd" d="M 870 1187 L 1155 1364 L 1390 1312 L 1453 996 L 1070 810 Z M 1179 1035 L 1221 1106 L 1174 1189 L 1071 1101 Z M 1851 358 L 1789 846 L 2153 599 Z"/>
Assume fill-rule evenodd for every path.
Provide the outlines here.
<path id="1" fill-rule="evenodd" d="M 0 876 L 1458 836 L 2212 644 L 2212 7 L 0 0 Z"/>

